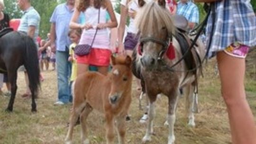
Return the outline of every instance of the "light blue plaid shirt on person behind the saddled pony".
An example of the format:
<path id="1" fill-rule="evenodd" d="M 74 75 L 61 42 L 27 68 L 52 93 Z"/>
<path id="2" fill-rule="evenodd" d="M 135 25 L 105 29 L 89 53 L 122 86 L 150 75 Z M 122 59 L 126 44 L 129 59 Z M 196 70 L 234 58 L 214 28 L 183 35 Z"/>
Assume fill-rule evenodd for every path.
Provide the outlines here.
<path id="1" fill-rule="evenodd" d="M 199 10 L 190 0 L 187 3 L 178 2 L 177 15 L 183 15 L 189 22 L 199 23 Z"/>

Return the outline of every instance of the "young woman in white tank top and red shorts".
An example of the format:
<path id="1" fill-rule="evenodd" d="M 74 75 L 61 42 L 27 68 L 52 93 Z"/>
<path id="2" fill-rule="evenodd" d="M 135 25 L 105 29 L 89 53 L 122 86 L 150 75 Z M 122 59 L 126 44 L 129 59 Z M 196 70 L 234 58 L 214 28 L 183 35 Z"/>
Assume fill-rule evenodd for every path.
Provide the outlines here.
<path id="1" fill-rule="evenodd" d="M 107 74 L 110 64 L 110 40 L 107 27 L 117 27 L 117 19 L 110 0 L 78 0 L 70 22 L 70 28 L 83 29 L 78 45 L 89 44 L 93 40 L 98 29 L 91 52 L 88 55 L 77 56 L 77 75 L 88 71 L 88 66 L 95 65 L 102 74 Z M 100 9 L 100 22 L 98 23 Z M 85 24 L 76 23 L 80 13 L 85 15 Z M 110 14 L 110 22 L 106 22 L 107 12 Z"/>

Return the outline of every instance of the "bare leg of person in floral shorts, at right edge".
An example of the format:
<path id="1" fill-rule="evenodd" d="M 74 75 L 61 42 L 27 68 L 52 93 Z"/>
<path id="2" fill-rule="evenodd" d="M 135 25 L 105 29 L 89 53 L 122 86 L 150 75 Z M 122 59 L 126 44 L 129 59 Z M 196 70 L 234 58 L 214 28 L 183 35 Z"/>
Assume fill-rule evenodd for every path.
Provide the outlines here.
<path id="1" fill-rule="evenodd" d="M 233 144 L 256 144 L 256 127 L 244 88 L 245 59 L 217 54 L 221 93 L 227 105 Z"/>

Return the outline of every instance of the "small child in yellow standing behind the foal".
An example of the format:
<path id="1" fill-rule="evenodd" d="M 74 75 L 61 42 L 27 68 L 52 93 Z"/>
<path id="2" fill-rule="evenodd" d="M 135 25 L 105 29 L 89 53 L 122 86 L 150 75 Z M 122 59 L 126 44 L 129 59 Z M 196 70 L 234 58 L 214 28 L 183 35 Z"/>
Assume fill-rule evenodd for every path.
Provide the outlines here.
<path id="1" fill-rule="evenodd" d="M 68 61 L 72 63 L 72 72 L 70 76 L 70 83 L 72 83 L 76 79 L 77 74 L 77 63 L 76 57 L 74 54 L 75 46 L 79 43 L 82 31 L 81 29 L 71 29 L 68 33 L 72 44 L 69 46 L 69 58 Z M 72 84 L 71 84 L 72 85 Z"/>

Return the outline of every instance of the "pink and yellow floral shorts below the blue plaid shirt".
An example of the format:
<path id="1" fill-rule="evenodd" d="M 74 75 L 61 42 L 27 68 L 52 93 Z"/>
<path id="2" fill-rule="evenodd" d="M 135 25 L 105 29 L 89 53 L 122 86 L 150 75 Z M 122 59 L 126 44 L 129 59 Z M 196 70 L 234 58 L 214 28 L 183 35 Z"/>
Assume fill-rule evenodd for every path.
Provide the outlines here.
<path id="1" fill-rule="evenodd" d="M 234 57 L 238 57 L 238 58 L 246 58 L 246 55 L 249 51 L 250 47 L 247 45 L 242 45 L 238 42 L 235 42 L 231 45 L 229 45 L 224 52 L 226 54 L 229 54 L 231 56 Z"/>

